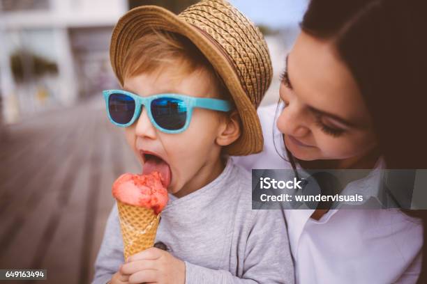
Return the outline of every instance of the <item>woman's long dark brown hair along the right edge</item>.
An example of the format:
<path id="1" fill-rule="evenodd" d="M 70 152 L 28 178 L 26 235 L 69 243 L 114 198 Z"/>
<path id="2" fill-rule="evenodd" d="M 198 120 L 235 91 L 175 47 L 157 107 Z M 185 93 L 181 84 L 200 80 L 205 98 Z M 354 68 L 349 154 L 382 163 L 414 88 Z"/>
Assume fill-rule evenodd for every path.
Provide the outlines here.
<path id="1" fill-rule="evenodd" d="M 352 72 L 387 168 L 427 168 L 427 1 L 313 0 L 301 29 L 331 40 Z M 426 210 L 405 213 L 427 228 Z M 427 283 L 427 245 L 422 253 Z"/>

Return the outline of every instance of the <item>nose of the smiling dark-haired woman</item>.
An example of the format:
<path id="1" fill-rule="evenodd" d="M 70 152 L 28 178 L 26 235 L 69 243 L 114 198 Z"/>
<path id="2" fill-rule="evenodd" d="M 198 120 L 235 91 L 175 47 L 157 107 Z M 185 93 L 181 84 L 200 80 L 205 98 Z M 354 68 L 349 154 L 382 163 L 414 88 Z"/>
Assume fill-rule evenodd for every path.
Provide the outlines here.
<path id="1" fill-rule="evenodd" d="M 280 113 L 277 127 L 283 134 L 302 137 L 310 132 L 306 125 L 306 118 L 298 106 L 287 105 Z"/>

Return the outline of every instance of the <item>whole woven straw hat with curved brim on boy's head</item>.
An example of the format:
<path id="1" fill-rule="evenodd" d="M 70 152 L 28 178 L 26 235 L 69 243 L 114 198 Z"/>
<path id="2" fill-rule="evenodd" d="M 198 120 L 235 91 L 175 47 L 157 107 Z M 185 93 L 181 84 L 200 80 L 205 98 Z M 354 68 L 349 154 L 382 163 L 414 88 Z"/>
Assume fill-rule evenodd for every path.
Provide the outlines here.
<path id="1" fill-rule="evenodd" d="M 126 52 L 135 40 L 152 29 L 186 36 L 230 90 L 243 129 L 239 139 L 227 146 L 227 152 L 261 152 L 264 140 L 256 108 L 271 83 L 273 71 L 267 43 L 257 27 L 223 0 L 200 1 L 179 15 L 158 6 L 134 8 L 119 19 L 110 45 L 112 68 L 122 86 Z"/>

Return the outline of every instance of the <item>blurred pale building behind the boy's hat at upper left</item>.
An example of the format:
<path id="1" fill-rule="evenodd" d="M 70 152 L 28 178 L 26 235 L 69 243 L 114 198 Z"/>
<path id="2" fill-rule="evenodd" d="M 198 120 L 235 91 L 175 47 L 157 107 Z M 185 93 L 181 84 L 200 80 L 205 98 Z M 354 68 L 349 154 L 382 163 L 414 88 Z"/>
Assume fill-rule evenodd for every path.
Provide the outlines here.
<path id="1" fill-rule="evenodd" d="M 6 123 L 114 86 L 108 47 L 125 0 L 0 0 Z"/>

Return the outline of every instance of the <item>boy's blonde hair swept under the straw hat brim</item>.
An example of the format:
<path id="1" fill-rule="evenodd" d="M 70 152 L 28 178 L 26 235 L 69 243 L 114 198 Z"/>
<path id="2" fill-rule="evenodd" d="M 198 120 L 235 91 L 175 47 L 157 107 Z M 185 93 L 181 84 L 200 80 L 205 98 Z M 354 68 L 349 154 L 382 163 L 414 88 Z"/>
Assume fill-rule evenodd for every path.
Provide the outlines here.
<path id="1" fill-rule="evenodd" d="M 220 98 L 232 102 L 223 80 L 193 42 L 168 31 L 153 30 L 131 45 L 124 59 L 123 78 L 155 72 L 167 65 L 178 68 L 182 76 L 196 70 L 206 71 L 213 86 L 219 91 Z"/>

